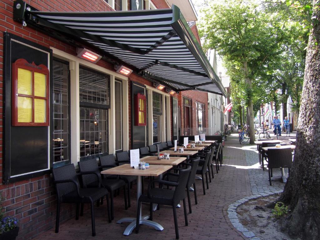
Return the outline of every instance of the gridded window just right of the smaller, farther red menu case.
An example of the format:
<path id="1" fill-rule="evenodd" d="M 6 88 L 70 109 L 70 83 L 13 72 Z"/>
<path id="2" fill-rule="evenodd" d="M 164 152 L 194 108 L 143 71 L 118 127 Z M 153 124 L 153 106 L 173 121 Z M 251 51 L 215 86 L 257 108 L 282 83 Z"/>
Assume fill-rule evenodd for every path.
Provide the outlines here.
<path id="1" fill-rule="evenodd" d="M 152 92 L 153 143 L 161 142 L 162 95 Z"/>

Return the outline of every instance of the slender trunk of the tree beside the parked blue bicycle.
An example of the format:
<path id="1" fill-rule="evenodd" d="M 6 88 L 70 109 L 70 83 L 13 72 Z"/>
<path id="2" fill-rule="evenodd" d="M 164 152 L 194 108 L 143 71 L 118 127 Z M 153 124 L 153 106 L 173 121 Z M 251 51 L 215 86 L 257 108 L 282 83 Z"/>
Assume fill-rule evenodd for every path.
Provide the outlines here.
<path id="1" fill-rule="evenodd" d="M 244 67 L 244 80 L 245 80 L 245 84 L 247 85 L 247 87 L 249 89 L 252 89 L 252 80 L 249 77 L 249 72 L 248 72 L 248 67 L 247 67 L 247 61 L 243 62 L 243 67 Z M 252 95 L 248 94 L 248 102 L 247 102 L 247 111 L 248 111 L 248 116 L 249 119 L 247 119 L 247 123 L 249 123 L 250 126 L 250 144 L 254 144 L 255 136 L 254 136 L 254 114 L 253 114 L 253 104 L 252 104 Z M 249 121 L 248 121 L 249 120 Z"/>

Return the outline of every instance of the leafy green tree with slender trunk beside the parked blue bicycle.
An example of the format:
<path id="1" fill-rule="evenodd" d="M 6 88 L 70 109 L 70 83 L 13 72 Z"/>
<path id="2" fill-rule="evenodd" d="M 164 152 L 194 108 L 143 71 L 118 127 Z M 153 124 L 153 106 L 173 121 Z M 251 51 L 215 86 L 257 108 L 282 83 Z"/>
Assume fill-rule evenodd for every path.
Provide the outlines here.
<path id="1" fill-rule="evenodd" d="M 243 0 L 214 3 L 204 13 L 204 22 L 200 24 L 204 48 L 217 49 L 225 62 L 242 71 L 244 100 L 250 116 L 247 123 L 253 128 L 253 99 L 260 89 L 255 81 L 257 74 L 267 72 L 269 62 L 278 55 L 281 29 L 270 25 L 269 16 L 259 11 L 258 5 Z M 250 131 L 250 144 L 254 140 L 254 131 Z"/>

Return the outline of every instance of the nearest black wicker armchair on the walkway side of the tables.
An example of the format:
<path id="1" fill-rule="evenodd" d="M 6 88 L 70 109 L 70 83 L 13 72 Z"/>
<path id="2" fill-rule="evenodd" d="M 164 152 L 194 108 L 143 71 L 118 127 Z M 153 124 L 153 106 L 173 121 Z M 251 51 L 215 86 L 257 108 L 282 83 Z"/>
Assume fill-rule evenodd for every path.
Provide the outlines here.
<path id="1" fill-rule="evenodd" d="M 186 208 L 186 186 L 188 182 L 188 176 L 190 173 L 191 167 L 188 166 L 186 169 L 179 169 L 179 177 L 177 182 L 170 182 L 164 180 L 153 180 L 149 182 L 148 185 L 148 195 L 141 195 L 138 200 L 138 210 L 137 210 L 137 223 L 136 223 L 136 233 L 139 232 L 139 220 L 140 220 L 140 208 L 141 202 L 150 203 L 150 218 L 152 220 L 152 204 L 163 204 L 172 206 L 173 210 L 173 219 L 174 219 L 174 228 L 176 231 L 176 239 L 179 239 L 178 231 L 178 220 L 177 220 L 177 210 L 176 206 L 183 201 L 183 210 L 185 224 L 188 226 L 188 217 L 187 217 L 187 208 Z M 175 187 L 174 190 L 164 189 L 164 188 L 153 188 L 153 183 L 158 182 L 161 186 L 162 184 Z"/>

